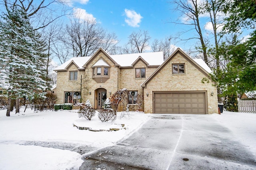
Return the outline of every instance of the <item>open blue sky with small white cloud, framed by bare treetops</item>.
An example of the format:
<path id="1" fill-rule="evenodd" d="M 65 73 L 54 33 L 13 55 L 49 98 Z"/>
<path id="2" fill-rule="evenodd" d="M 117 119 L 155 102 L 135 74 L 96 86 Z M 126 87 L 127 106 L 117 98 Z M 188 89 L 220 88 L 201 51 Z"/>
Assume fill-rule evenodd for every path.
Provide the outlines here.
<path id="1" fill-rule="evenodd" d="M 179 29 L 168 23 L 178 14 L 170 10 L 172 6 L 166 0 L 75 0 L 70 6 L 82 9 L 84 15 L 95 18 L 108 32 L 115 32 L 120 45 L 127 43 L 134 31 L 148 31 L 153 41 Z"/>

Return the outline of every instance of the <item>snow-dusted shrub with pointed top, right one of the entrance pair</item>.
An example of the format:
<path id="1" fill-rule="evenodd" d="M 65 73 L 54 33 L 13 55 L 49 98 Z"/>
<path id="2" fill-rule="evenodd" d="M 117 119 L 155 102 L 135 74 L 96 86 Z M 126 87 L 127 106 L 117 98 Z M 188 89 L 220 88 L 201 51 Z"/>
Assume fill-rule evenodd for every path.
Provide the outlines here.
<path id="1" fill-rule="evenodd" d="M 116 112 L 111 107 L 111 102 L 106 99 L 104 103 L 104 110 L 99 111 L 98 117 L 102 122 L 114 121 L 116 119 Z"/>

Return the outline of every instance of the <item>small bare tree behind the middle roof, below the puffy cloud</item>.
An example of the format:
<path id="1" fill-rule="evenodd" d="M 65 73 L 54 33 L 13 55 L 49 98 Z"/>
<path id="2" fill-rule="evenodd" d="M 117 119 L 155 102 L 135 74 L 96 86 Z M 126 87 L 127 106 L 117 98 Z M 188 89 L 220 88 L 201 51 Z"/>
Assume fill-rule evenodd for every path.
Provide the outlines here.
<path id="1" fill-rule="evenodd" d="M 148 31 L 139 31 L 139 32 L 132 32 L 130 34 L 129 42 L 126 44 L 126 51 L 128 53 L 142 53 L 148 47 L 148 42 L 150 40 L 150 36 L 148 35 Z"/>

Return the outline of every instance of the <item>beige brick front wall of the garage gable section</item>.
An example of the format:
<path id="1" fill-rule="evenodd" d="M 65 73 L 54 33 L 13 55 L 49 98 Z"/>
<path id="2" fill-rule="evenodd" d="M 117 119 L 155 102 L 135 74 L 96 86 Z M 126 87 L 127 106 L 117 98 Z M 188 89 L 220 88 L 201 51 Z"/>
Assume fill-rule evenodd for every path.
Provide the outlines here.
<path id="1" fill-rule="evenodd" d="M 185 74 L 173 75 L 172 63 L 185 63 Z M 218 113 L 217 89 L 212 81 L 203 84 L 201 81 L 204 77 L 206 75 L 178 53 L 146 84 L 144 112 L 153 112 L 153 91 L 206 91 L 208 114 Z M 211 96 L 212 92 L 213 96 Z M 148 97 L 146 93 L 149 94 Z"/>

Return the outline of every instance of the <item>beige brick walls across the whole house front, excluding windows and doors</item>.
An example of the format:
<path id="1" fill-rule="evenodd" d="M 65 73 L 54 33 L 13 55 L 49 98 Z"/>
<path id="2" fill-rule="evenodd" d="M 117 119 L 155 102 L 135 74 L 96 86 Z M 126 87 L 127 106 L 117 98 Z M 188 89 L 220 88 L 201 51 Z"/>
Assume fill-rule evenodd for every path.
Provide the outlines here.
<path id="1" fill-rule="evenodd" d="M 100 59 L 104 59 L 110 66 L 110 78 L 105 83 L 97 83 L 92 79 L 92 66 Z M 185 74 L 172 75 L 172 63 L 185 63 Z M 146 78 L 135 78 L 136 68 L 146 68 Z M 80 91 L 80 77 L 82 75 L 82 102 L 87 99 L 96 108 L 97 107 L 97 90 L 100 88 L 106 89 L 107 97 L 110 98 L 111 93 L 115 93 L 119 89 L 126 88 L 132 91 L 143 93 L 143 88 L 140 86 L 157 68 L 147 67 L 142 61 L 138 60 L 132 68 L 119 68 L 110 60 L 105 53 L 99 52 L 91 63 L 87 65 L 85 70 L 79 71 L 72 64 L 67 71 L 58 71 L 57 88 L 54 93 L 57 95 L 56 103 L 64 103 L 64 92 Z M 69 71 L 78 71 L 78 80 L 69 80 Z M 144 88 L 144 112 L 153 112 L 153 91 L 206 91 L 207 95 L 207 113 L 218 113 L 217 90 L 210 83 L 202 83 L 202 79 L 206 77 L 194 65 L 187 61 L 180 53 L 177 53 L 158 73 L 146 83 Z M 91 92 L 91 95 L 89 94 Z M 214 93 L 211 96 L 211 93 Z M 148 97 L 146 96 L 148 93 Z"/>

